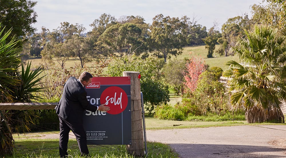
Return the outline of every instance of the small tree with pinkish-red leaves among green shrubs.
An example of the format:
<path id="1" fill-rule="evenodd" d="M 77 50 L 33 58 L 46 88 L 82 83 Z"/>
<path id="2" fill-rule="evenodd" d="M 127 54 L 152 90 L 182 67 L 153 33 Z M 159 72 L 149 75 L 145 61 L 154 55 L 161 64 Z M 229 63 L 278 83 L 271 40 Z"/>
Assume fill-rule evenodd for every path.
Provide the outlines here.
<path id="1" fill-rule="evenodd" d="M 184 78 L 186 80 L 185 85 L 194 92 L 196 89 L 199 75 L 206 70 L 206 65 L 202 58 L 192 57 L 186 63 L 186 71 L 184 72 Z"/>

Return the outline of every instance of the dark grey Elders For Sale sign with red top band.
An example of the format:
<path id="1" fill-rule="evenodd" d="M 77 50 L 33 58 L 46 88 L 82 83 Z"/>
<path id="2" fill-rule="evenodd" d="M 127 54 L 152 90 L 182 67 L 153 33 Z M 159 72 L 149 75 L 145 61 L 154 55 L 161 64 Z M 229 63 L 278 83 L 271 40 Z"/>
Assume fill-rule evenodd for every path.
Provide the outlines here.
<path id="1" fill-rule="evenodd" d="M 130 77 L 93 77 L 85 88 L 90 104 L 110 107 L 107 112 L 85 111 L 88 144 L 131 144 Z"/>

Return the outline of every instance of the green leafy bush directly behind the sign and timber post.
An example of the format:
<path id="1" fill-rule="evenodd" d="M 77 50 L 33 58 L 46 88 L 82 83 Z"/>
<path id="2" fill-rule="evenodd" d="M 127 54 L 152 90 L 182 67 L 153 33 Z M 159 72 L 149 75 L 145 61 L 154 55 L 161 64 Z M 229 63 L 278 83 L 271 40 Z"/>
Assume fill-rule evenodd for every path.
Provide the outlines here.
<path id="1" fill-rule="evenodd" d="M 160 82 L 160 73 L 158 73 L 163 64 L 164 62 L 158 58 L 141 59 L 135 55 L 126 55 L 110 62 L 107 73 L 111 76 L 122 76 L 123 71 L 139 72 L 144 105 L 151 113 L 155 107 L 170 101 L 168 86 Z"/>

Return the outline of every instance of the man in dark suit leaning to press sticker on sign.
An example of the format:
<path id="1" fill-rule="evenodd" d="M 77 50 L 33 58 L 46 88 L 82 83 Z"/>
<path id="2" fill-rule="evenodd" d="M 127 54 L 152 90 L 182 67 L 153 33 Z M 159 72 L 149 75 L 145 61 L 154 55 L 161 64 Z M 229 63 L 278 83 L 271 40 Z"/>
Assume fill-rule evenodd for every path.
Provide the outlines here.
<path id="1" fill-rule="evenodd" d="M 92 75 L 88 72 L 83 72 L 79 79 L 70 77 L 63 87 L 63 95 L 57 106 L 56 113 L 59 116 L 59 155 L 67 157 L 67 143 L 69 141 L 69 131 L 72 130 L 76 136 L 78 147 L 81 155 L 88 155 L 88 147 L 86 141 L 86 133 L 83 128 L 83 114 L 85 110 L 89 111 L 108 111 L 109 107 L 102 104 L 100 106 L 91 105 L 86 98 L 84 86 L 87 86 L 92 81 Z"/>

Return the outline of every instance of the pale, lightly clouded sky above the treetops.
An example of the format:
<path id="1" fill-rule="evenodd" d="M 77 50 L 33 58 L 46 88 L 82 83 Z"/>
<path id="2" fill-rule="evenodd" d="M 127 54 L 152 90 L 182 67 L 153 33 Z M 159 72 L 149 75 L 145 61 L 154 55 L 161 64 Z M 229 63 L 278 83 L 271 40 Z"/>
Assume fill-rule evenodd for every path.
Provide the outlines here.
<path id="1" fill-rule="evenodd" d="M 35 0 L 37 23 L 33 27 L 41 32 L 41 27 L 50 31 L 60 27 L 62 22 L 82 24 L 86 32 L 91 31 L 90 24 L 102 14 L 110 14 L 116 19 L 124 16 L 141 16 L 146 23 L 162 14 L 164 17 L 187 16 L 197 24 L 210 29 L 214 22 L 219 28 L 227 19 L 251 15 L 251 5 L 262 0 Z"/>

